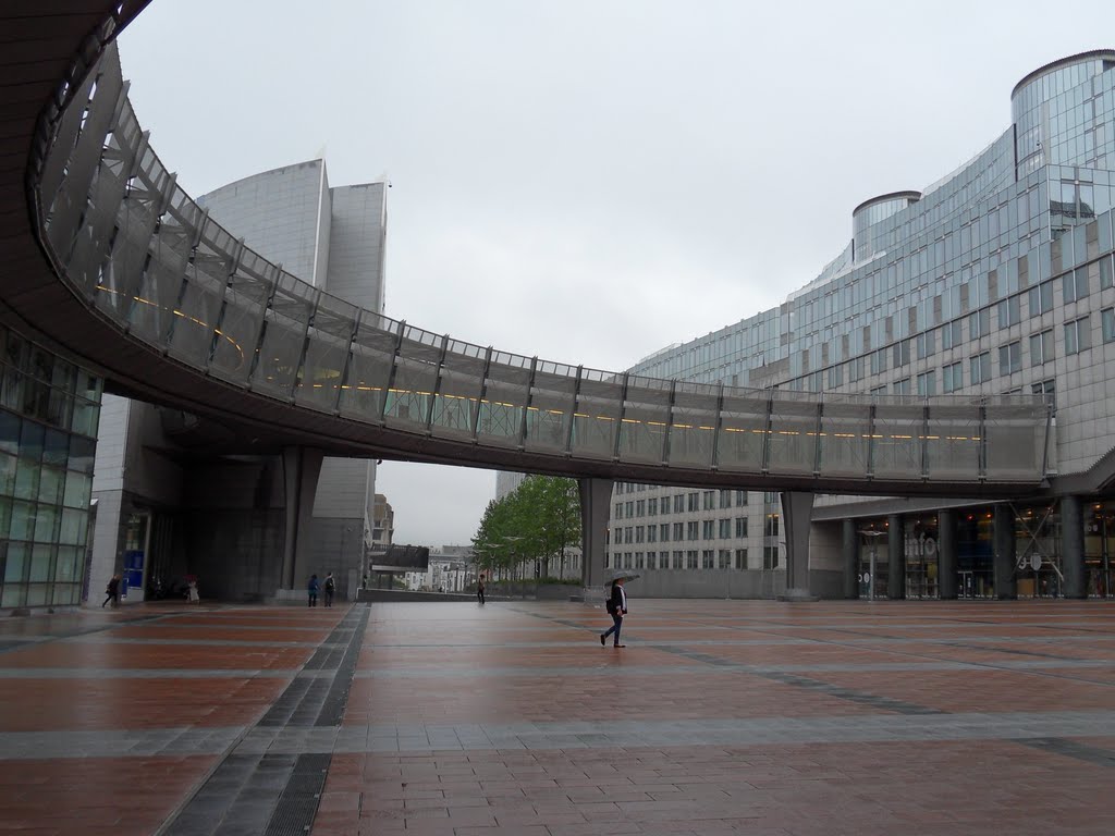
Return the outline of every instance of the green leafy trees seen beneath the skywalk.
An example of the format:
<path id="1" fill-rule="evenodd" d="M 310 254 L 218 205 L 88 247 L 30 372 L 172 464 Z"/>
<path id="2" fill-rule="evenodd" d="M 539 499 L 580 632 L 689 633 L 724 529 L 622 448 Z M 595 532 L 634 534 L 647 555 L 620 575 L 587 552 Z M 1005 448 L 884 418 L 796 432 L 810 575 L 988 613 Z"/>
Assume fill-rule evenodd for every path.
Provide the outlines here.
<path id="1" fill-rule="evenodd" d="M 576 482 L 559 476 L 527 476 L 502 499 L 489 502 L 473 537 L 478 568 L 510 580 L 549 577 L 552 562 L 579 545 Z"/>

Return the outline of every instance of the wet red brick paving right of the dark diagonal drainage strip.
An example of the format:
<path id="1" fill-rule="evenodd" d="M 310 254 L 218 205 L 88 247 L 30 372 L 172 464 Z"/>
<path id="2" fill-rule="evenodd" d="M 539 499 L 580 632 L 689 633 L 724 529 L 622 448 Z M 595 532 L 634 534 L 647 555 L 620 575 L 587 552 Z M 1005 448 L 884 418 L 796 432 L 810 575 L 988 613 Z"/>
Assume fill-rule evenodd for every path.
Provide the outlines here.
<path id="1" fill-rule="evenodd" d="M 381 675 L 353 682 L 345 722 L 901 718 L 886 708 L 900 703 L 989 715 L 1115 709 L 1115 642 L 1092 638 L 1092 631 L 1115 631 L 1115 606 L 1107 603 L 636 605 L 638 620 L 624 625 L 629 648 L 620 653 L 592 647 L 586 629 L 602 629 L 604 619 L 576 605 L 533 611 L 586 629 L 540 629 L 530 616 L 515 623 L 507 610 L 520 604 L 459 610 L 456 619 L 442 609 L 420 620 L 419 611 L 382 606 L 374 611 L 360 657 L 361 668 Z M 807 643 L 733 643 L 785 639 Z M 934 643 L 939 639 L 956 644 Z M 568 642 L 584 648 L 563 647 Z M 650 647 L 656 642 L 662 649 Z M 685 652 L 736 665 L 902 663 L 925 670 L 791 672 L 865 698 L 857 701 L 744 670 L 697 672 L 699 659 Z M 1009 668 L 1057 659 L 1113 667 Z M 933 670 L 940 662 L 985 667 Z M 576 667 L 583 677 L 546 674 L 546 668 Z M 657 670 L 640 673 L 646 667 Z M 685 670 L 671 674 L 671 667 Z M 522 672 L 498 672 L 505 668 Z M 533 669 L 536 675 L 524 675 Z M 898 702 L 876 706 L 873 697 Z M 1067 742 L 1115 758 L 1115 737 Z M 978 737 L 336 755 L 313 833 L 1111 836 L 1115 808 L 1102 799 L 1115 781 L 1112 762 Z"/>

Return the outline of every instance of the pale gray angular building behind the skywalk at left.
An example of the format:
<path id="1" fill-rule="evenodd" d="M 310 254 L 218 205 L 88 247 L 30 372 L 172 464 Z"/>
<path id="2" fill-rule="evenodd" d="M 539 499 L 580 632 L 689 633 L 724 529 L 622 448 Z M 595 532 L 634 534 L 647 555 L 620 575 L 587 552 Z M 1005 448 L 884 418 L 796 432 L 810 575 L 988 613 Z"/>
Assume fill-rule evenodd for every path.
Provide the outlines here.
<path id="1" fill-rule="evenodd" d="M 331 187 L 326 162 L 312 159 L 236 181 L 198 204 L 291 274 L 382 312 L 385 193 L 384 183 Z M 219 418 L 106 395 L 93 484 L 94 585 L 123 564 L 128 600 L 164 594 L 186 575 L 198 577 L 203 595 L 269 597 L 282 585 L 284 535 L 297 534 L 294 577 L 332 572 L 347 596 L 374 539 L 375 461 L 304 448 L 244 455 L 252 445 Z M 291 519 L 283 495 L 295 483 L 313 493 Z"/>

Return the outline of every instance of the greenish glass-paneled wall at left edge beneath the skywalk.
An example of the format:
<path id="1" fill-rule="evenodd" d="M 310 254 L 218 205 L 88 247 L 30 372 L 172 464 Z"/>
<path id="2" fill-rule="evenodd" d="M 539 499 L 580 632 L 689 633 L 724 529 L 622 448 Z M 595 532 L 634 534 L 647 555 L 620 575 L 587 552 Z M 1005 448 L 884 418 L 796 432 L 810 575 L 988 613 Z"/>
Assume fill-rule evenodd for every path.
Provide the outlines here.
<path id="1" fill-rule="evenodd" d="M 0 329 L 0 606 L 83 599 L 101 381 Z"/>

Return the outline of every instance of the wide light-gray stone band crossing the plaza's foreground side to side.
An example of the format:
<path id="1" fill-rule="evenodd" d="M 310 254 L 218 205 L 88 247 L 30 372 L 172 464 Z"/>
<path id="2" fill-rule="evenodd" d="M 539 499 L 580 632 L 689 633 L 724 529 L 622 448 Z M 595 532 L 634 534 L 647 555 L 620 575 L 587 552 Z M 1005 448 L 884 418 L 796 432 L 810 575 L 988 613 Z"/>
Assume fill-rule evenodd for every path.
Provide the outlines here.
<path id="1" fill-rule="evenodd" d="M 6 757 L 26 759 L 214 755 L 225 751 L 236 755 L 331 755 L 466 749 L 552 750 L 697 745 L 1060 740 L 1111 736 L 1115 736 L 1115 710 L 6 732 L 0 733 L 0 749 L 4 751 Z M 1078 746 L 1069 742 L 1072 746 Z M 1063 742 L 1047 743 L 1047 747 L 1050 746 L 1066 749 L 1066 754 L 1067 749 L 1072 748 Z M 1096 749 L 1096 751 L 1105 750 Z M 1109 755 L 1108 752 L 1103 757 Z"/>

